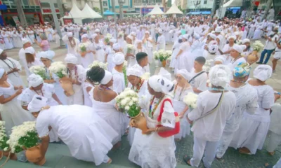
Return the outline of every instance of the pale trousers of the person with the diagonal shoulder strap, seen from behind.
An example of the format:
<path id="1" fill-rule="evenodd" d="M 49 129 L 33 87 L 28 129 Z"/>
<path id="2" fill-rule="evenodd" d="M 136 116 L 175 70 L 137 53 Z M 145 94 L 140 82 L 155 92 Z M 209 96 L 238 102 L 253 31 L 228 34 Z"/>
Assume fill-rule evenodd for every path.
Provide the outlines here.
<path id="1" fill-rule="evenodd" d="M 198 167 L 204 154 L 204 167 L 210 168 L 211 163 L 214 161 L 214 158 L 216 156 L 217 147 L 218 141 L 206 141 L 194 137 L 193 156 L 190 160 L 191 166 Z"/>

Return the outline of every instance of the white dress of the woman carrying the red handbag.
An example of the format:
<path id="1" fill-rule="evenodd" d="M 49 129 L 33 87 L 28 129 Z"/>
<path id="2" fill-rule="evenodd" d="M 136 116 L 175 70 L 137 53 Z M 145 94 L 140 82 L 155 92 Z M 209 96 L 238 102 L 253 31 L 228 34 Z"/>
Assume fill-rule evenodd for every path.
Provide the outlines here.
<path id="1" fill-rule="evenodd" d="M 168 98 L 165 96 L 163 98 Z M 152 109 L 158 103 L 159 99 L 154 99 L 152 103 Z M 157 125 L 157 118 L 161 109 L 160 102 L 159 106 L 155 110 L 153 118 L 149 117 L 149 112 L 145 111 L 145 117 L 147 118 L 147 125 L 149 128 L 155 128 Z M 164 103 L 163 116 L 174 123 L 174 109 L 171 103 Z M 171 115 L 173 113 L 173 115 Z M 162 116 L 162 117 L 163 117 Z M 162 122 L 163 126 L 174 128 L 175 125 L 169 124 L 168 122 Z M 136 129 L 135 138 L 133 140 L 133 145 L 129 153 L 129 160 L 136 163 L 136 165 L 142 168 L 150 167 L 161 167 L 161 168 L 175 168 L 176 167 L 176 145 L 174 142 L 174 136 L 162 138 L 157 132 L 152 132 L 151 134 L 142 134 L 141 130 Z"/>

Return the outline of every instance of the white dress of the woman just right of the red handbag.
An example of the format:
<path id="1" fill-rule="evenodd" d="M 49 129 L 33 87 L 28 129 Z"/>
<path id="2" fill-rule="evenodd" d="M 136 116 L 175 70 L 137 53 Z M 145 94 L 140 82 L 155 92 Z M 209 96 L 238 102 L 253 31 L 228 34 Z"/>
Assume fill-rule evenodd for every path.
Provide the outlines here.
<path id="1" fill-rule="evenodd" d="M 175 85 L 176 85 L 176 80 L 174 81 Z M 174 90 L 174 98 L 173 98 L 173 106 L 176 112 L 178 112 L 178 114 L 180 114 L 183 109 L 185 109 L 185 106 L 187 106 L 184 102 L 183 102 L 183 98 L 189 93 L 189 92 L 193 92 L 192 87 L 188 87 L 185 88 L 183 90 L 182 87 L 175 87 Z M 188 111 L 185 112 L 185 116 L 183 116 L 183 118 L 181 118 L 181 130 L 178 134 L 176 134 L 174 137 L 175 139 L 181 139 L 181 138 L 185 138 L 186 135 L 190 135 L 190 123 L 188 123 L 188 120 L 186 120 L 186 116 L 188 115 L 188 113 L 190 112 L 190 109 L 188 109 Z"/>

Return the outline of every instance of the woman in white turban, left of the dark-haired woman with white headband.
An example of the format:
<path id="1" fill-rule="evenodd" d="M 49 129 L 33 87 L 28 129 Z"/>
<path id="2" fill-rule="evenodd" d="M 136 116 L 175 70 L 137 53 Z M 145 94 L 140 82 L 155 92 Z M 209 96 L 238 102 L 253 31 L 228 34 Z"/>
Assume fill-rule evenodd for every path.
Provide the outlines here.
<path id="1" fill-rule="evenodd" d="M 78 59 L 74 55 L 66 55 L 65 63 L 67 64 L 67 78 L 71 78 L 74 90 L 73 95 L 68 95 L 65 92 L 65 95 L 67 96 L 68 105 L 84 105 L 84 92 L 81 84 L 84 82 L 85 69 L 83 68 L 83 66 L 77 64 L 77 62 Z"/>

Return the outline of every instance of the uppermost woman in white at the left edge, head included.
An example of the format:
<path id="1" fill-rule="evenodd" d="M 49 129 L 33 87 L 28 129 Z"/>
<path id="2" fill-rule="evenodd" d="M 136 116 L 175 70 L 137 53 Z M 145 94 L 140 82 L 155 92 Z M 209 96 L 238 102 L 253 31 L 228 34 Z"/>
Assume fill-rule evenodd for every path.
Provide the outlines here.
<path id="1" fill-rule="evenodd" d="M 12 85 L 21 85 L 25 87 L 22 78 L 20 78 L 20 71 L 22 66 L 17 60 L 7 57 L 7 53 L 0 49 L 0 68 L 5 69 L 8 79 L 11 80 Z"/>

